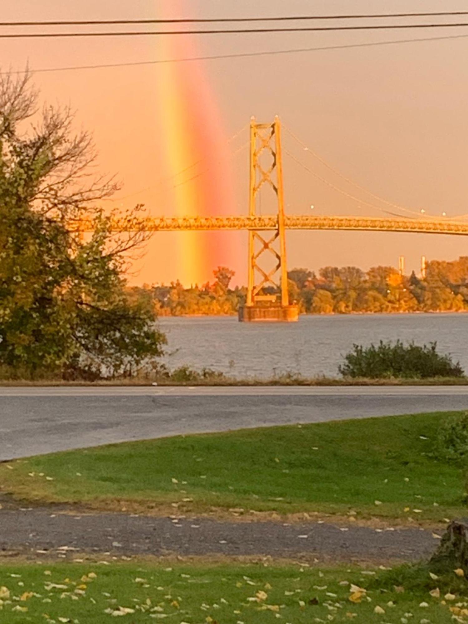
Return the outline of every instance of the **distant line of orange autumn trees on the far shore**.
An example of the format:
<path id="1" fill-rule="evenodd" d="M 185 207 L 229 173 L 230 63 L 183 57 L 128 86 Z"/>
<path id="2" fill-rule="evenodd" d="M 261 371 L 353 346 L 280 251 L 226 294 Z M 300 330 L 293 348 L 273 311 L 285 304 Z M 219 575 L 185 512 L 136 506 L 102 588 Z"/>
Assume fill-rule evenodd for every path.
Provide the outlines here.
<path id="1" fill-rule="evenodd" d="M 160 316 L 236 314 L 245 303 L 245 286 L 230 288 L 234 271 L 226 267 L 218 267 L 213 275 L 215 280 L 202 286 L 184 288 L 176 281 L 130 291 L 137 298 L 152 300 Z M 369 271 L 325 266 L 318 275 L 296 268 L 288 273 L 288 288 L 290 301 L 306 314 L 468 311 L 468 256 L 451 262 L 432 260 L 424 278 L 414 271 L 401 275 L 392 266 L 374 266 Z"/>

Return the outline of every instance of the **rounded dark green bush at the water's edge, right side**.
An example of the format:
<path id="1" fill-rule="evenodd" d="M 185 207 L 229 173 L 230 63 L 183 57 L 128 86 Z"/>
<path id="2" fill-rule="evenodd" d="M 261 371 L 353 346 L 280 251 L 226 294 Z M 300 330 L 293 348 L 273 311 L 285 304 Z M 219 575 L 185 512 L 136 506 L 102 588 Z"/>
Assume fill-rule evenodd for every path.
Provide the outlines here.
<path id="1" fill-rule="evenodd" d="M 413 342 L 404 344 L 380 341 L 376 346 L 353 345 L 353 351 L 344 356 L 339 366 L 344 377 L 369 379 L 405 378 L 425 379 L 433 377 L 463 377 L 460 363 L 451 356 L 437 353 L 437 343 L 419 346 Z"/>

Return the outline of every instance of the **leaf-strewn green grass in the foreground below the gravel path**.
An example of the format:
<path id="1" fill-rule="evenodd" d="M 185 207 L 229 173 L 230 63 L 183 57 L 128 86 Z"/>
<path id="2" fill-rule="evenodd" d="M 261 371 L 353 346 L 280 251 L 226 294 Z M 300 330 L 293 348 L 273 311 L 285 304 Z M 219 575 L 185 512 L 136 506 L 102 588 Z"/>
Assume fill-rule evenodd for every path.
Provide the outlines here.
<path id="1" fill-rule="evenodd" d="M 6 565 L 0 567 L 0 621 L 100 624 L 127 610 L 121 621 L 129 624 L 449 624 L 450 608 L 465 608 L 455 605 L 466 605 L 468 596 L 466 581 L 452 577 L 453 583 L 442 584 L 423 569 L 320 571 L 297 565 Z M 404 587 L 406 579 L 411 588 Z M 366 590 L 358 592 L 361 602 L 349 600 L 350 583 Z M 437 587 L 441 597 L 431 597 Z M 454 600 L 444 601 L 447 591 Z"/>

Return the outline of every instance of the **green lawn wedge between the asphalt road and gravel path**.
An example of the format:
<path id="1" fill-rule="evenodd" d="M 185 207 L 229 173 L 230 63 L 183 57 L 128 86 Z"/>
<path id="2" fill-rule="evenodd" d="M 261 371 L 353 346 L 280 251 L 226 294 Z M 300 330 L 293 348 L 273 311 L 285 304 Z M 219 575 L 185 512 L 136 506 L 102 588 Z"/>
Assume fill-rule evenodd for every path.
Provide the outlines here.
<path id="1" fill-rule="evenodd" d="M 37 456 L 1 464 L 0 488 L 101 509 L 444 521 L 466 514 L 464 470 L 431 456 L 447 416 L 270 427 Z"/>

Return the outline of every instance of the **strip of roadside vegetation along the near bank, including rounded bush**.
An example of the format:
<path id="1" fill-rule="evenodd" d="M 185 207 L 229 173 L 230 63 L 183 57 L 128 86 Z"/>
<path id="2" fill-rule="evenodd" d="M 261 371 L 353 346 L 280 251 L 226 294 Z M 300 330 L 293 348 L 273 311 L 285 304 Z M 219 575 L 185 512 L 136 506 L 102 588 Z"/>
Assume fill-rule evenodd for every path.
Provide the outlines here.
<path id="1" fill-rule="evenodd" d="M 195 369 L 182 365 L 170 369 L 158 359 L 150 359 L 141 366 L 127 368 L 120 374 L 114 371 L 76 371 L 74 378 L 62 371 L 35 371 L 0 366 L 0 384 L 119 384 L 160 386 L 369 386 L 369 385 L 463 385 L 468 384 L 460 363 L 451 356 L 437 352 L 437 343 L 419 346 L 401 341 L 367 347 L 354 344 L 338 367 L 341 378 L 319 376 L 306 378 L 300 373 L 275 372 L 270 378 L 236 378 L 222 371 L 203 367 Z"/>

